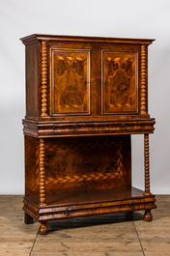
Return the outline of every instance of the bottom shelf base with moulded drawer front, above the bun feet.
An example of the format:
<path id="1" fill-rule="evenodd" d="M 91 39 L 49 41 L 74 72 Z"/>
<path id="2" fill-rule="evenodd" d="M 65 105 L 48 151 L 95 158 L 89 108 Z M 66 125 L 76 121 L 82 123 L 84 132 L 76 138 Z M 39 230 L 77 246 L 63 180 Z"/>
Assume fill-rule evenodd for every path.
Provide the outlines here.
<path id="1" fill-rule="evenodd" d="M 45 206 L 39 196 L 24 198 L 23 210 L 39 221 L 103 213 L 122 213 L 156 208 L 155 195 L 144 196 L 135 187 L 47 194 Z"/>

